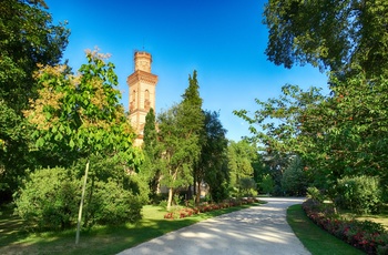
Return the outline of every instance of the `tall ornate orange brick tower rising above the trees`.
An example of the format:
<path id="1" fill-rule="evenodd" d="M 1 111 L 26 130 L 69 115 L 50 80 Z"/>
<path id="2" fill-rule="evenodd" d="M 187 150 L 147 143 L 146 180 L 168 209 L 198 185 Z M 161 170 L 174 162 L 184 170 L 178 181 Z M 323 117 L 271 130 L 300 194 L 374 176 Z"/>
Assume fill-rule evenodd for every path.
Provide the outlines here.
<path id="1" fill-rule="evenodd" d="M 143 143 L 145 116 L 152 108 L 155 111 L 157 75 L 151 73 L 152 57 L 144 51 L 134 52 L 134 72 L 127 76 L 130 86 L 130 120 L 137 133 L 134 145 Z"/>

